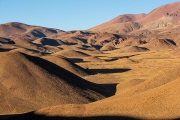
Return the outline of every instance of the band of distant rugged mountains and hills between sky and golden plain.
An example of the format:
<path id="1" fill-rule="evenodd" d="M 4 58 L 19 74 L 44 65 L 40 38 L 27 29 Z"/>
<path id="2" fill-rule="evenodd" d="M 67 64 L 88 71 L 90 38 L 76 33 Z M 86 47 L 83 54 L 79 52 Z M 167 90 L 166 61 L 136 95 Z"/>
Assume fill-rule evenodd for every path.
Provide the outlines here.
<path id="1" fill-rule="evenodd" d="M 0 36 L 11 39 L 14 45 L 9 46 L 12 48 L 18 46 L 40 54 L 59 52 L 59 46 L 101 51 L 123 48 L 126 52 L 129 48 L 124 47 L 128 46 L 136 46 L 132 49 L 144 48 L 150 51 L 174 49 L 180 45 L 179 4 L 180 2 L 163 5 L 148 14 L 119 15 L 84 31 L 62 31 L 17 22 L 6 23 L 0 25 Z M 3 49 L 6 48 L 3 46 Z"/>

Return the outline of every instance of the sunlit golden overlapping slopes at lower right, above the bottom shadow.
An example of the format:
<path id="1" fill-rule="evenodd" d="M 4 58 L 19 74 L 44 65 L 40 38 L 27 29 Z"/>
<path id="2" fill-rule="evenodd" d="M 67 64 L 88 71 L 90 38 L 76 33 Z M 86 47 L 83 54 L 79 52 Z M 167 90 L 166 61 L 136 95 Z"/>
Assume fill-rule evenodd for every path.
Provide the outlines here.
<path id="1" fill-rule="evenodd" d="M 163 71 L 147 81 L 135 82 L 129 90 L 85 105 L 59 105 L 36 111 L 46 116 L 132 116 L 142 119 L 174 119 L 180 116 L 180 66 Z M 127 85 L 127 83 L 125 83 Z"/>

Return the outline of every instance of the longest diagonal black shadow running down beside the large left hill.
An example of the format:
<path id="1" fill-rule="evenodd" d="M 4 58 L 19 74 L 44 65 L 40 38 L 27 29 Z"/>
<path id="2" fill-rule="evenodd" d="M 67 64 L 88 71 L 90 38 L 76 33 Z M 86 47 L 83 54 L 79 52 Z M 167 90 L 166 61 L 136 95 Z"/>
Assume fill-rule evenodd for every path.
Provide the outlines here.
<path id="1" fill-rule="evenodd" d="M 39 57 L 30 56 L 30 55 L 27 55 L 24 53 L 21 53 L 21 54 L 23 54 L 28 60 L 30 60 L 34 64 L 36 64 L 36 65 L 40 66 L 42 69 L 45 69 L 46 71 L 48 71 L 50 74 L 56 75 L 57 77 L 61 78 L 62 80 L 65 80 L 66 83 L 68 83 L 74 87 L 78 87 L 82 90 L 92 89 L 92 90 L 104 95 L 105 97 L 113 96 L 116 93 L 116 85 L 117 84 L 96 84 L 93 82 L 89 82 L 89 81 L 67 71 L 64 68 L 57 66 L 56 64 L 54 64 L 52 62 L 49 62 L 49 61 L 44 60 Z M 88 99 L 90 99 L 88 96 L 86 96 L 86 97 Z M 95 101 L 95 100 L 91 100 L 91 101 Z"/>

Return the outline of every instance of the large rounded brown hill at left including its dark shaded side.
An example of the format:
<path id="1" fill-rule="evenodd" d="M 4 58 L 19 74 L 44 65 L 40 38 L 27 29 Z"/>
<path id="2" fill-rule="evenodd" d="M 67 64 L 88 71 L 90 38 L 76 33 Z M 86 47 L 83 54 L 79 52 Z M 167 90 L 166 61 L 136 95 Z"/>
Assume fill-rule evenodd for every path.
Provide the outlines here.
<path id="1" fill-rule="evenodd" d="M 38 57 L 4 52 L 0 59 L 0 114 L 89 103 L 109 95 L 101 86 Z"/>

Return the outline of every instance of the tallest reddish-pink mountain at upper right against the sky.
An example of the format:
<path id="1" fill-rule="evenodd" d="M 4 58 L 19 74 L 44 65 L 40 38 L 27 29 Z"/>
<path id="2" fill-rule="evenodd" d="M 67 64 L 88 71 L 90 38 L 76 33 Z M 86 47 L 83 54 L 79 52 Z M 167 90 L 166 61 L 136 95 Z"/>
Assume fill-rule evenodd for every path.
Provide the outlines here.
<path id="1" fill-rule="evenodd" d="M 180 20 L 180 2 L 160 6 L 148 14 L 120 15 L 89 30 L 127 34 L 141 29 L 164 28 Z M 148 26 L 148 28 L 147 28 Z"/>

